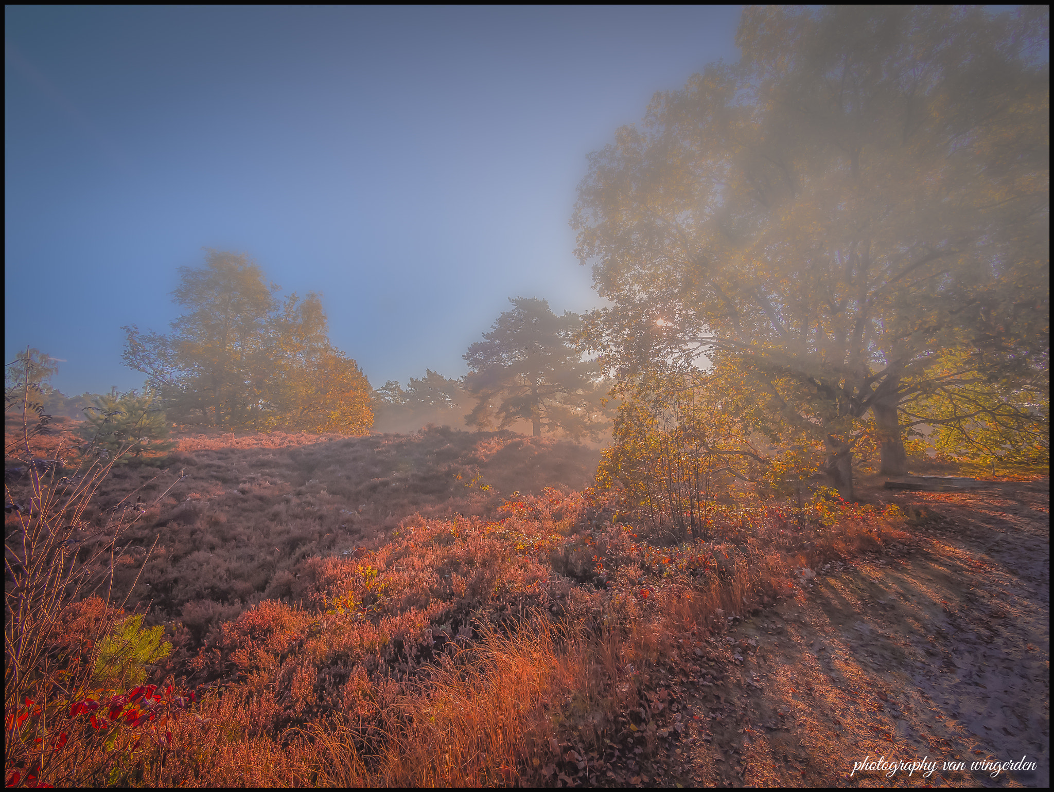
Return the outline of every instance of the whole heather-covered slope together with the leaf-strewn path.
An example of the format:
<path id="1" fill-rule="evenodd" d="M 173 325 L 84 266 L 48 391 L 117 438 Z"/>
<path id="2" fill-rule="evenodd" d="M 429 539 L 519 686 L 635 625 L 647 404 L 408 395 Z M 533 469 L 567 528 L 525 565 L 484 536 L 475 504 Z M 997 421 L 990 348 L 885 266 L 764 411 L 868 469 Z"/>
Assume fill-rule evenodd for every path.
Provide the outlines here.
<path id="1" fill-rule="evenodd" d="M 164 470 L 114 467 L 74 538 L 137 518 L 112 601 L 130 594 L 174 645 L 151 671 L 174 686 L 151 699 L 168 731 L 123 726 L 140 711 L 120 687 L 93 693 L 110 719 L 71 710 L 80 753 L 51 777 L 855 787 L 905 783 L 855 771 L 867 755 L 1043 760 L 1048 480 L 865 479 L 859 504 L 803 510 L 739 492 L 705 541 L 671 547 L 587 489 L 597 456 L 429 429 L 183 435 Z M 103 614 L 71 606 L 54 651 Z M 92 753 L 124 732 L 126 748 Z"/>

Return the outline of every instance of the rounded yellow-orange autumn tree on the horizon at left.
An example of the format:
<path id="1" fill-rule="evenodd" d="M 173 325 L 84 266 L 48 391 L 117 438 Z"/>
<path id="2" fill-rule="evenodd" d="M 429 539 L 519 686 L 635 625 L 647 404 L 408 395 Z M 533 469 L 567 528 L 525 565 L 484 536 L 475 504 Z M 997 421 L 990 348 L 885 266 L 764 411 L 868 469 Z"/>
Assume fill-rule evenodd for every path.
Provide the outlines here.
<path id="1" fill-rule="evenodd" d="M 173 295 L 189 313 L 173 332 L 123 329 L 125 364 L 149 376 L 174 417 L 225 429 L 369 430 L 369 384 L 330 344 L 317 294 L 279 301 L 245 255 L 210 251 L 203 268 L 179 272 Z"/>

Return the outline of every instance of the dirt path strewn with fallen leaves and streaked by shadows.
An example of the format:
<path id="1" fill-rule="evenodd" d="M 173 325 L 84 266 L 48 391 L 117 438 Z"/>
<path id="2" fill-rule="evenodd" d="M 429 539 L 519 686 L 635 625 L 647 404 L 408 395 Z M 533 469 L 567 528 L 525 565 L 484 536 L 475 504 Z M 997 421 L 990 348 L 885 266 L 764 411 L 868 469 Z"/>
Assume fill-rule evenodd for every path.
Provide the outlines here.
<path id="1" fill-rule="evenodd" d="M 671 668 L 679 712 L 641 784 L 1048 786 L 1049 480 L 870 494 L 930 513 L 914 547 L 818 570 L 803 596 L 700 645 L 694 679 Z M 868 756 L 937 765 L 854 772 Z M 1022 756 L 1034 771 L 971 769 Z"/>

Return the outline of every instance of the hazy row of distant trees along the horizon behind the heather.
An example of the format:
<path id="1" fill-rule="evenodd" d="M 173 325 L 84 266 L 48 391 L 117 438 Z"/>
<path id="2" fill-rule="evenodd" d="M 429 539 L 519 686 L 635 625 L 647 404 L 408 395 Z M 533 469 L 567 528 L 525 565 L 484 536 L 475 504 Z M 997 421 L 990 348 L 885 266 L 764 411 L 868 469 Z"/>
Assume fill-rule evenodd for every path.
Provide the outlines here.
<path id="1" fill-rule="evenodd" d="M 372 389 L 329 340 L 321 298 L 280 298 L 241 254 L 210 251 L 203 268 L 180 268 L 174 301 L 188 313 L 168 334 L 125 326 L 124 363 L 147 375 L 144 392 L 176 423 L 223 430 L 365 434 L 429 423 L 520 429 L 599 438 L 609 425 L 610 381 L 579 346 L 582 318 L 546 300 L 516 297 L 463 356 L 470 371 L 447 379 L 426 370 L 404 389 Z M 84 403 L 60 405 L 73 417 Z M 57 414 L 57 413 L 56 413 Z"/>

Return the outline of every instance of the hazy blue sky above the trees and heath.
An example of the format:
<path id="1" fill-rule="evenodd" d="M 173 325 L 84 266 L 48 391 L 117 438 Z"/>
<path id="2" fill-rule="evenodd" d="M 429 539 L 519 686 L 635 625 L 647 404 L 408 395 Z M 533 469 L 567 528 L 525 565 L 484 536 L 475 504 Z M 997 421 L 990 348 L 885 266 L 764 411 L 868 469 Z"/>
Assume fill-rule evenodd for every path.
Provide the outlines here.
<path id="1" fill-rule="evenodd" d="M 512 296 L 598 304 L 586 157 L 735 60 L 740 6 L 6 6 L 4 354 L 124 391 L 120 326 L 250 254 L 317 291 L 373 385 L 461 356 Z"/>

